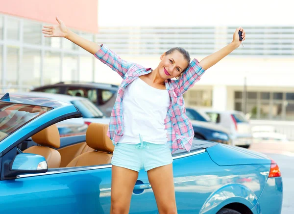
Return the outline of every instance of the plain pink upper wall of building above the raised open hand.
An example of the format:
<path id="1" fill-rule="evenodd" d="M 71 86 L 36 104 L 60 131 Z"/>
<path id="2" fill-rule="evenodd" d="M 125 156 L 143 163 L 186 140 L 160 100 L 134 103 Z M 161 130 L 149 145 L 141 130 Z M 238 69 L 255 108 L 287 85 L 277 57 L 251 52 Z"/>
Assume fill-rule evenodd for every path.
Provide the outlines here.
<path id="1" fill-rule="evenodd" d="M 0 13 L 98 32 L 98 0 L 0 0 Z"/>

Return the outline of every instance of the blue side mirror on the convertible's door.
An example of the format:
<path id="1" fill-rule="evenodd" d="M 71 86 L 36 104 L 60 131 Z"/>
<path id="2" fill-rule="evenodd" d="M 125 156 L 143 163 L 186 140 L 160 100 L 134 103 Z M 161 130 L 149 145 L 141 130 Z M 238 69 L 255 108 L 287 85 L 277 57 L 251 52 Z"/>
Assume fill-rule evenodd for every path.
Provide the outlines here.
<path id="1" fill-rule="evenodd" d="M 45 173 L 48 171 L 46 159 L 41 155 L 21 153 L 10 163 L 5 177 L 14 177 L 21 174 Z"/>

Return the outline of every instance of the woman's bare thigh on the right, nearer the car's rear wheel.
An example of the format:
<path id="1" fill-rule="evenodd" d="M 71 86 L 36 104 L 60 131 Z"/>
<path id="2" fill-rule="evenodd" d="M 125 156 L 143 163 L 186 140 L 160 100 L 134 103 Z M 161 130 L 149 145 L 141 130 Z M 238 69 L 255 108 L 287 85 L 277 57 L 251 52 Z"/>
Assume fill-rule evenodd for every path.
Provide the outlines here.
<path id="1" fill-rule="evenodd" d="M 159 214 L 177 214 L 172 163 L 147 171 Z"/>

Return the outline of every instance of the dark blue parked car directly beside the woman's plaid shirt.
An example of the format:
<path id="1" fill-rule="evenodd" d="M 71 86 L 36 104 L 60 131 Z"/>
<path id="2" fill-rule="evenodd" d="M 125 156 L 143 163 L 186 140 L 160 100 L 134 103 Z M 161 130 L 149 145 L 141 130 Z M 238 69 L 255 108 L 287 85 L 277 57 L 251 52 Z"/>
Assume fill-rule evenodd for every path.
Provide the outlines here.
<path id="1" fill-rule="evenodd" d="M 186 115 L 191 120 L 195 138 L 232 145 L 229 130 L 213 123 L 207 114 L 186 107 Z"/>

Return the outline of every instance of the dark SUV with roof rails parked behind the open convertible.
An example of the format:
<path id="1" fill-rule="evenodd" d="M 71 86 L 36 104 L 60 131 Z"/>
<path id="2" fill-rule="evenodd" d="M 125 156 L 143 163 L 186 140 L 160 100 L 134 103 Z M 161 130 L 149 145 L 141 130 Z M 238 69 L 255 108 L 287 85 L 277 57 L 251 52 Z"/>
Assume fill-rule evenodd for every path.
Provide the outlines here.
<path id="1" fill-rule="evenodd" d="M 32 91 L 41 91 L 54 94 L 67 94 L 88 98 L 106 116 L 110 116 L 117 96 L 118 85 L 96 82 L 58 82 L 34 88 Z"/>

